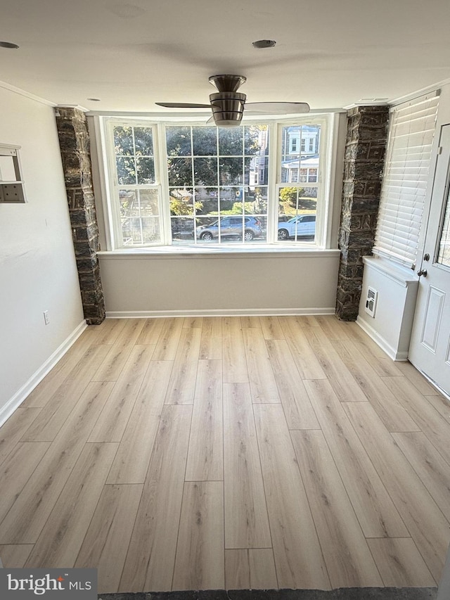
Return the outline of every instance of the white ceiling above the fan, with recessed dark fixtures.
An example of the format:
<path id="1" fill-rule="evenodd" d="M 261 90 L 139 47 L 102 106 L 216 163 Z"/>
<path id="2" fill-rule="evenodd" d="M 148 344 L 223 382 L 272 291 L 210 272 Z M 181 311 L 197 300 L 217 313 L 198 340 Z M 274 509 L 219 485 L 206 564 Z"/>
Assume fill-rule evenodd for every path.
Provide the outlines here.
<path id="1" fill-rule="evenodd" d="M 0 0 L 0 15 L 20 46 L 0 49 L 0 79 L 90 110 L 205 103 L 222 73 L 248 78 L 248 101 L 316 110 L 450 78 L 449 0 Z"/>

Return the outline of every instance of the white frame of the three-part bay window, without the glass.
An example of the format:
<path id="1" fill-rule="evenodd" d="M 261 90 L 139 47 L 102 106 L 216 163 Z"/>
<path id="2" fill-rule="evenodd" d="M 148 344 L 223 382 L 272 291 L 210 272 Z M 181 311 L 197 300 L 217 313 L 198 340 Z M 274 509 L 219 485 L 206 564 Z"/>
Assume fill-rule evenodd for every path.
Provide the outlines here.
<path id="1" fill-rule="evenodd" d="M 110 252 L 127 251 L 127 253 L 142 253 L 146 250 L 170 250 L 179 252 L 186 251 L 192 253 L 195 251 L 204 251 L 205 245 L 186 243 L 172 245 L 172 231 L 169 210 L 169 177 L 164 165 L 167 161 L 165 146 L 165 127 L 166 126 L 198 126 L 204 125 L 205 120 L 168 120 L 160 117 L 139 117 L 132 118 L 127 115 L 107 116 L 95 115 L 95 131 L 97 141 L 97 151 L 99 159 L 99 172 L 101 179 L 101 197 L 103 203 L 103 217 L 105 224 L 106 250 Z M 330 114 L 309 114 L 304 117 L 284 117 L 274 119 L 248 118 L 243 125 L 268 125 L 269 127 L 269 173 L 268 173 L 268 198 L 274 198 L 273 202 L 268 203 L 267 209 L 267 238 L 266 243 L 231 243 L 226 244 L 208 244 L 208 248 L 215 250 L 226 250 L 238 248 L 245 252 L 257 252 L 270 246 L 272 250 L 286 249 L 287 247 L 295 249 L 318 250 L 330 248 L 330 226 L 333 219 L 333 192 L 334 192 L 334 174 L 335 168 L 333 158 L 336 151 L 337 140 L 335 138 L 338 127 L 335 115 Z M 153 185 L 144 186 L 118 186 L 115 177 L 115 153 L 113 126 L 129 125 L 132 127 L 153 127 L 153 146 L 155 153 L 155 179 Z M 288 125 L 320 125 L 321 151 L 319 159 L 318 177 L 316 182 L 302 183 L 282 183 L 281 182 L 281 132 L 283 127 Z M 285 186 L 297 187 L 317 187 L 317 207 L 316 207 L 316 238 L 314 243 L 304 243 L 303 241 L 278 241 L 278 191 Z M 121 243 L 122 232 L 120 229 L 119 205 L 116 202 L 118 198 L 117 191 L 122 187 L 148 189 L 157 187 L 159 190 L 159 210 L 160 210 L 160 231 L 161 243 L 148 244 L 143 246 L 123 246 Z M 276 199 L 276 200 L 275 200 Z"/>

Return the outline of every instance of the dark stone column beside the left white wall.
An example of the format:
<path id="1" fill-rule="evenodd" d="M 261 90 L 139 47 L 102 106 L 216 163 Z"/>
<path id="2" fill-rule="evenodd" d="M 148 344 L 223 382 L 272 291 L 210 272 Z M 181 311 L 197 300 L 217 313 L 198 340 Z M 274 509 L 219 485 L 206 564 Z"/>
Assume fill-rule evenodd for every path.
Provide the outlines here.
<path id="1" fill-rule="evenodd" d="M 97 257 L 98 227 L 86 115 L 77 108 L 55 110 L 84 318 L 88 325 L 98 325 L 105 319 L 105 300 Z"/>

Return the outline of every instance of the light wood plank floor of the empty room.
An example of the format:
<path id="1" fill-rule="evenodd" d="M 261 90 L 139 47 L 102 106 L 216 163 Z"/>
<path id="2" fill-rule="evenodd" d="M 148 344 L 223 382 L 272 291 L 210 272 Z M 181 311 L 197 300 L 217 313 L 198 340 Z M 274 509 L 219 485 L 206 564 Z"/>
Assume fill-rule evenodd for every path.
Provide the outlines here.
<path id="1" fill-rule="evenodd" d="M 109 319 L 0 429 L 0 558 L 99 592 L 433 587 L 450 404 L 335 317 Z"/>

